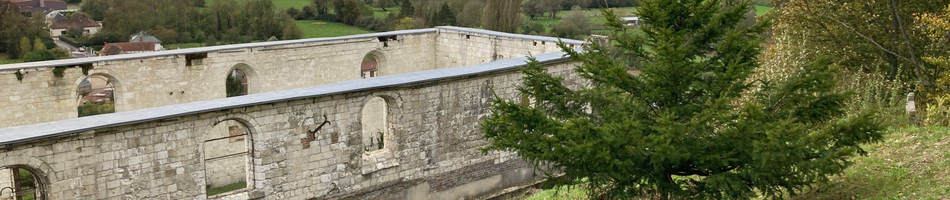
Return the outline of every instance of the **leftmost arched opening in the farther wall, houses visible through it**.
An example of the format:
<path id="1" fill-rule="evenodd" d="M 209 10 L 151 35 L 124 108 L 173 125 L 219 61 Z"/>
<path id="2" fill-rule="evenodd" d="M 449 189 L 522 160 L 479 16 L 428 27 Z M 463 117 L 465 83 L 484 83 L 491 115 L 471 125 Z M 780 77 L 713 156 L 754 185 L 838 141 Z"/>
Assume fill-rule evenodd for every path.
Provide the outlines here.
<path id="1" fill-rule="evenodd" d="M 89 76 L 76 89 L 79 118 L 116 112 L 115 86 L 104 76 Z"/>

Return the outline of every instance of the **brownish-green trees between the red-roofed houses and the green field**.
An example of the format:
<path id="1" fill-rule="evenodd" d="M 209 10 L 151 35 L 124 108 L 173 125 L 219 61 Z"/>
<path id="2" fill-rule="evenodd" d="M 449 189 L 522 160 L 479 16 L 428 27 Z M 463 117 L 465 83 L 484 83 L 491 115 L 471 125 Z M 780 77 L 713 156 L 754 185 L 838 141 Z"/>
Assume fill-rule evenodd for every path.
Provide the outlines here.
<path id="1" fill-rule="evenodd" d="M 303 35 L 294 18 L 276 11 L 270 0 L 217 0 L 212 5 L 203 0 L 84 0 L 80 7 L 94 20 L 103 21 L 102 32 L 85 38 L 93 44 L 126 42 L 128 35 L 141 30 L 164 44 L 238 44 Z"/>

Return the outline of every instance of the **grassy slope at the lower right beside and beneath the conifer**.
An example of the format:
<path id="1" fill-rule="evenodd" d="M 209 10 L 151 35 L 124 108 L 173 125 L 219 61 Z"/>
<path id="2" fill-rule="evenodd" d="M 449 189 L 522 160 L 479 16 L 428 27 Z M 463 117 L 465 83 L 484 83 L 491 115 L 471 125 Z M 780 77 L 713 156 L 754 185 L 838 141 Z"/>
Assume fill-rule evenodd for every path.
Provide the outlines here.
<path id="1" fill-rule="evenodd" d="M 911 127 L 889 131 L 852 157 L 845 173 L 831 176 L 791 200 L 947 199 L 950 196 L 950 128 Z M 523 200 L 585 199 L 576 188 L 539 191 Z"/>

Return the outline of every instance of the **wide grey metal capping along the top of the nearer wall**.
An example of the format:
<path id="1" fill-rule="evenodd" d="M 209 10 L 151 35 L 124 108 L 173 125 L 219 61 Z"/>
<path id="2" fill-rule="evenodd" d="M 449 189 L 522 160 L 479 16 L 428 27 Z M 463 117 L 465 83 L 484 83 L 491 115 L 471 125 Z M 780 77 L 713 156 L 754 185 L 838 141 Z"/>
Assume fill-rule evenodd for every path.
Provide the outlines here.
<path id="1" fill-rule="evenodd" d="M 558 51 L 536 55 L 535 58 L 539 62 L 551 64 L 566 60 L 567 58 L 565 58 L 565 56 L 565 53 Z M 134 124 L 161 118 L 174 118 L 184 115 L 265 104 L 276 101 L 315 98 L 355 91 L 395 87 L 420 82 L 449 80 L 471 75 L 488 74 L 523 66 L 526 64 L 527 60 L 527 57 L 513 58 L 486 64 L 433 69 L 407 74 L 336 82 L 233 98 L 202 100 L 84 118 L 69 118 L 45 123 L 0 128 L 0 145 L 51 136 L 63 136 L 99 128 Z"/>

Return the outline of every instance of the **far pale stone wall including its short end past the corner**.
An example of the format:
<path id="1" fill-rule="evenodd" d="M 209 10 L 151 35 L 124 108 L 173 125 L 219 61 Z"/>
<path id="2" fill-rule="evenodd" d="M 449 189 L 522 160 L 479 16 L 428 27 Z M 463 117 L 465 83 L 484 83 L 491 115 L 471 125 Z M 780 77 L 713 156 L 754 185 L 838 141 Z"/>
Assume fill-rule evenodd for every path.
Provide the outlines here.
<path id="1" fill-rule="evenodd" d="M 388 41 L 388 34 L 396 35 L 395 41 Z M 247 73 L 249 93 L 256 94 L 359 79 L 363 57 L 371 53 L 379 60 L 380 76 L 386 76 L 560 50 L 553 38 L 464 27 L 369 35 L 158 51 L 139 54 L 145 55 L 142 58 L 126 54 L 45 62 L 73 66 L 104 60 L 88 63 L 92 69 L 86 74 L 80 67 L 66 68 L 63 77 L 54 76 L 51 66 L 2 64 L 0 110 L 9 115 L 0 115 L 0 127 L 76 118 L 76 86 L 87 75 L 113 82 L 115 110 L 122 112 L 225 98 L 225 79 L 235 68 Z M 188 65 L 188 53 L 199 51 L 207 58 Z M 29 67 L 13 67 L 17 65 Z M 24 68 L 22 81 L 14 75 L 18 68 Z"/>

